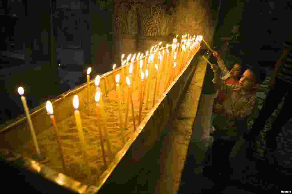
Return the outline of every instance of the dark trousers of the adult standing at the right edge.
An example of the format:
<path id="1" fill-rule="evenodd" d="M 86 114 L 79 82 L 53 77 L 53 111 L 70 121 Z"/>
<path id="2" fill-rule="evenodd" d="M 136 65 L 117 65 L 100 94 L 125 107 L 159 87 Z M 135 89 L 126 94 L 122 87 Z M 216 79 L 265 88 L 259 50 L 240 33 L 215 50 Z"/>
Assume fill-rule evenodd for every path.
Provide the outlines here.
<path id="1" fill-rule="evenodd" d="M 282 101 L 284 95 L 288 92 L 285 97 L 284 105 L 275 120 L 272 123 L 272 128 L 266 134 L 267 147 L 275 149 L 276 137 L 279 135 L 281 129 L 286 122 L 291 118 L 291 107 L 292 107 L 292 84 L 282 81 L 276 78 L 274 87 L 269 91 L 265 99 L 263 108 L 261 109 L 258 118 L 253 123 L 251 132 L 258 135 L 260 131 L 264 129 L 266 120 L 271 116 L 274 110 L 277 108 L 279 103 Z"/>

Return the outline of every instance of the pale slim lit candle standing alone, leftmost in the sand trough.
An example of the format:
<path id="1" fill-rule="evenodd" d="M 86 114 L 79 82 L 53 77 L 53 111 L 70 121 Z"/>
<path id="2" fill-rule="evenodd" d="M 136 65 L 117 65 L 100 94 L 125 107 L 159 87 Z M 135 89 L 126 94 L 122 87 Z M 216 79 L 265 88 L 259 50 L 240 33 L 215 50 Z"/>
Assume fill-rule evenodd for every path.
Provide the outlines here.
<path id="1" fill-rule="evenodd" d="M 18 93 L 21 95 L 20 99 L 21 99 L 23 107 L 24 107 L 24 111 L 25 111 L 25 114 L 26 114 L 27 122 L 29 124 L 29 129 L 30 129 L 30 132 L 32 134 L 32 140 L 34 142 L 34 147 L 36 149 L 36 153 L 38 155 L 39 160 L 42 160 L 43 158 L 41 156 L 41 152 L 39 150 L 39 145 L 38 145 L 37 140 L 36 140 L 36 134 L 34 132 L 34 126 L 32 125 L 32 119 L 30 118 L 29 110 L 28 110 L 28 107 L 27 107 L 27 104 L 26 104 L 26 99 L 23 96 L 24 89 L 22 87 L 19 87 L 18 88 Z"/>

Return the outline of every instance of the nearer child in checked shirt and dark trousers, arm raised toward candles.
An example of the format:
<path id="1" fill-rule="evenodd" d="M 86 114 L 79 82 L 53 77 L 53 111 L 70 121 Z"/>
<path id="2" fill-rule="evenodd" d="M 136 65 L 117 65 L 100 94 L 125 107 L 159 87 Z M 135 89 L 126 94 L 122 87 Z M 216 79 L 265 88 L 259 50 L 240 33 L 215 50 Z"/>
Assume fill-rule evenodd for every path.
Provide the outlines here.
<path id="1" fill-rule="evenodd" d="M 228 180 L 232 172 L 229 155 L 239 137 L 247 130 L 247 117 L 256 107 L 256 91 L 265 80 L 265 71 L 250 67 L 244 72 L 238 84 L 226 84 L 220 79 L 218 68 L 217 65 L 211 65 L 215 73 L 213 83 L 215 88 L 226 92 L 227 99 L 222 105 L 213 106 L 218 115 L 213 121 L 216 131 L 212 146 L 211 171 L 222 170 L 224 172 L 222 178 Z"/>

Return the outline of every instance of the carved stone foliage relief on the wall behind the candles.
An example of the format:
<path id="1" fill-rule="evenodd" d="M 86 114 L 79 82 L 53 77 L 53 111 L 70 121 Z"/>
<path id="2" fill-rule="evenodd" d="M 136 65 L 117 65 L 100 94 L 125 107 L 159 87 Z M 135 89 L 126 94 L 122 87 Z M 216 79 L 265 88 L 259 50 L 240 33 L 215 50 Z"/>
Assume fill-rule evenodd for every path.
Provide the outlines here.
<path id="1" fill-rule="evenodd" d="M 167 36 L 171 22 L 166 5 L 148 6 L 139 1 L 115 5 L 115 25 L 119 34 Z"/>

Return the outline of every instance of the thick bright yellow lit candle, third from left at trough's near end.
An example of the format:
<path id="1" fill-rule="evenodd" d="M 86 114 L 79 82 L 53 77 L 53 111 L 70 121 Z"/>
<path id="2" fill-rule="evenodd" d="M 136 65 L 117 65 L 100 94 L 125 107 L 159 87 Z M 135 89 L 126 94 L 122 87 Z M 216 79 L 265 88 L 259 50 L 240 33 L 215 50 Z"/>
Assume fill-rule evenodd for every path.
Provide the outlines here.
<path id="1" fill-rule="evenodd" d="M 88 180 L 91 179 L 91 168 L 89 166 L 89 161 L 88 161 L 88 156 L 86 153 L 86 144 L 85 144 L 85 139 L 84 139 L 84 134 L 83 134 L 83 129 L 82 129 L 82 123 L 81 123 L 81 117 L 80 117 L 80 112 L 78 110 L 78 106 L 79 106 L 79 100 L 78 100 L 78 96 L 75 95 L 73 98 L 73 106 L 74 106 L 74 115 L 75 115 L 75 122 L 76 122 L 76 126 L 77 126 L 77 130 L 78 130 L 78 136 L 80 139 L 80 143 L 81 143 L 81 149 L 83 152 L 83 156 L 84 156 L 84 160 L 85 163 L 87 165 L 87 170 L 88 170 Z"/>

